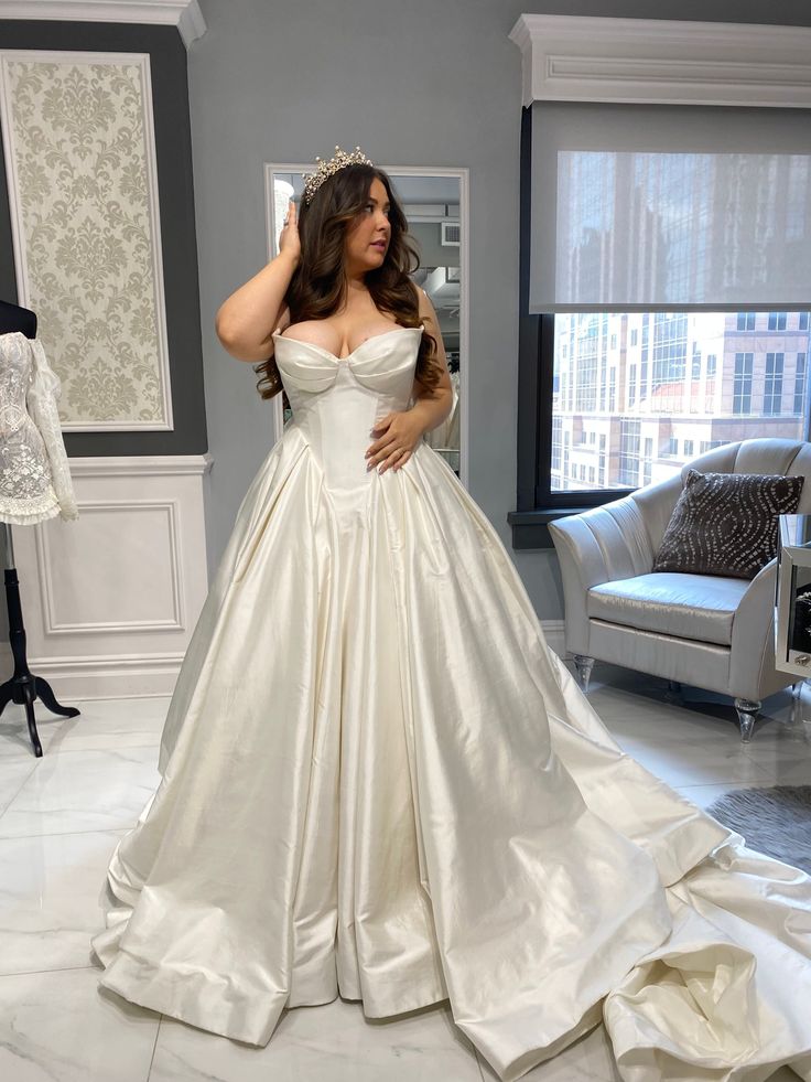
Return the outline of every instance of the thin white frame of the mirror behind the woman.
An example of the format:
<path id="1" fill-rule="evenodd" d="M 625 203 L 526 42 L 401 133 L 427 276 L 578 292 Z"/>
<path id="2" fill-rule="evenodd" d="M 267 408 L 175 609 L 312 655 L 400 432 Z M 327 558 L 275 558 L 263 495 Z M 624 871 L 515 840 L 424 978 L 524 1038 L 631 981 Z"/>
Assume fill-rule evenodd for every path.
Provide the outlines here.
<path id="1" fill-rule="evenodd" d="M 311 162 L 264 162 L 264 216 L 268 261 L 275 255 L 274 237 L 275 211 L 273 206 L 273 174 L 274 173 L 312 173 Z M 392 180 L 398 176 L 454 176 L 459 182 L 459 473 L 458 478 L 465 489 L 468 489 L 468 399 L 469 399 L 469 169 L 467 167 L 446 165 L 386 165 L 382 169 Z M 281 437 L 283 428 L 282 396 L 277 395 L 271 401 L 273 408 L 274 442 Z"/>

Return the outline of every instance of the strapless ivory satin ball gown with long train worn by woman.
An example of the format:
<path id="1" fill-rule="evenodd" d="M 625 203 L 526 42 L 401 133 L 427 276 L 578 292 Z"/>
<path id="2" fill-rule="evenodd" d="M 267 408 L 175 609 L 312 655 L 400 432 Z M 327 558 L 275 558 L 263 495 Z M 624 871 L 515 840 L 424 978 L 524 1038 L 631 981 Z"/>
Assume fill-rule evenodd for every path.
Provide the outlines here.
<path id="1" fill-rule="evenodd" d="M 110 861 L 100 984 L 263 1046 L 444 998 L 513 1080 L 599 1021 L 628 1082 L 811 1080 L 811 879 L 624 754 L 407 408 L 419 328 L 277 333 L 293 419 L 239 507 Z"/>

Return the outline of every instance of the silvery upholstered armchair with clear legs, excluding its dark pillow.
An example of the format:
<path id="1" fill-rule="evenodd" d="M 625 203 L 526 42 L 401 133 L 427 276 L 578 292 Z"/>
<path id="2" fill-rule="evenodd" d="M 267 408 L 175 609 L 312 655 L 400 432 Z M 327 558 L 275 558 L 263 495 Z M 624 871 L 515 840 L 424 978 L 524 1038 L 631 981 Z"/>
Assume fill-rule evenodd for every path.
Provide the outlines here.
<path id="1" fill-rule="evenodd" d="M 811 443 L 749 439 L 707 451 L 674 478 L 550 523 L 566 649 L 584 690 L 597 658 L 731 695 L 748 741 L 761 700 L 796 681 L 775 668 L 777 560 L 754 579 L 652 571 L 689 469 L 802 474 L 798 513 L 811 512 Z"/>

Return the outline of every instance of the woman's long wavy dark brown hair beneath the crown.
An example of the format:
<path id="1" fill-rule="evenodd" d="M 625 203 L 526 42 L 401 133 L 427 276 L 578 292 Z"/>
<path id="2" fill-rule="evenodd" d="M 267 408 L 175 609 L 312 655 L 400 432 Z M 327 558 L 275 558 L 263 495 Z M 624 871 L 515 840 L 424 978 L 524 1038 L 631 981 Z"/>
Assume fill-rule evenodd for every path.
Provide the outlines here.
<path id="1" fill-rule="evenodd" d="M 402 326 L 419 326 L 417 287 L 409 277 L 420 266 L 420 257 L 409 236 L 408 221 L 382 169 L 375 165 L 345 165 L 318 188 L 312 202 L 301 201 L 298 210 L 301 259 L 293 271 L 283 303 L 290 308 L 290 322 L 327 319 L 344 303 L 344 240 L 356 215 L 361 214 L 369 200 L 375 178 L 386 186 L 390 201 L 390 242 L 380 267 L 366 274 L 365 282 L 375 304 Z M 275 357 L 253 366 L 260 376 L 257 390 L 262 398 L 273 398 L 282 392 L 282 404 L 290 406 L 284 393 Z M 436 340 L 425 330 L 420 340 L 414 376 L 428 389 L 433 389 L 442 376 L 436 362 Z"/>

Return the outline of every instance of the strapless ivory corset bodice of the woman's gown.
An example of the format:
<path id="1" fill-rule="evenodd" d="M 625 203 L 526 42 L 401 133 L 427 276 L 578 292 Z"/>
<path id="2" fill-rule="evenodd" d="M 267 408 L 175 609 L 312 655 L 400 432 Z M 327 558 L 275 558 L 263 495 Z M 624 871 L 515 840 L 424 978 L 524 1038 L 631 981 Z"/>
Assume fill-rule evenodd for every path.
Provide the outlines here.
<path id="1" fill-rule="evenodd" d="M 368 485 L 366 449 L 378 418 L 408 407 L 422 326 L 375 334 L 346 357 L 312 342 L 273 334 L 275 362 L 293 413 L 334 492 Z"/>

